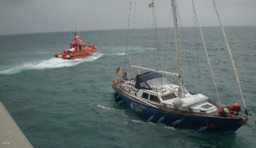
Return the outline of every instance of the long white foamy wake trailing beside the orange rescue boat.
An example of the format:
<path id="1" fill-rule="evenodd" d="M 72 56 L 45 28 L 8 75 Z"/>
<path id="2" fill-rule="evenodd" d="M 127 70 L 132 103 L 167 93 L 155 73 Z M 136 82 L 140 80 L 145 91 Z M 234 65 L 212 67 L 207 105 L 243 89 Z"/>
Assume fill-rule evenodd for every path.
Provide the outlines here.
<path id="1" fill-rule="evenodd" d="M 59 68 L 59 67 L 70 67 L 70 66 L 78 65 L 83 62 L 94 61 L 102 56 L 103 54 L 95 53 L 92 56 L 84 59 L 64 60 L 61 58 L 52 58 L 49 60 L 42 60 L 39 62 L 24 62 L 23 64 L 12 66 L 9 69 L 0 70 L 0 75 L 18 73 L 22 70 L 28 70 L 28 69 L 49 69 L 49 68 Z"/>

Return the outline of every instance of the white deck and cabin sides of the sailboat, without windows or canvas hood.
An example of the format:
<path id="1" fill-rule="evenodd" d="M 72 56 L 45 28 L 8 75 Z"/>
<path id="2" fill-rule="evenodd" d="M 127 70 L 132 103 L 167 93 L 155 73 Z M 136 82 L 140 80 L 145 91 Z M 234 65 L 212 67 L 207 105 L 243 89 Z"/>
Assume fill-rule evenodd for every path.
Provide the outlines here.
<path id="1" fill-rule="evenodd" d="M 203 113 L 211 113 L 217 111 L 217 108 L 208 102 L 208 97 L 203 94 L 195 94 L 192 95 L 188 93 L 187 90 L 184 90 L 185 97 L 179 98 L 175 97 L 169 100 L 163 101 L 161 96 L 174 93 L 178 96 L 178 85 L 175 84 L 166 84 L 163 86 L 154 86 L 153 90 L 147 89 L 136 89 L 134 81 L 125 81 L 122 83 L 122 87 L 131 95 L 134 95 L 140 98 L 142 101 L 146 101 L 148 103 L 153 103 L 156 105 L 165 105 L 166 107 L 174 108 L 179 107 L 182 110 L 190 110 L 194 112 L 203 112 Z M 149 94 L 148 99 L 142 98 L 142 94 Z M 161 103 L 155 103 L 150 101 L 150 95 L 158 96 Z"/>

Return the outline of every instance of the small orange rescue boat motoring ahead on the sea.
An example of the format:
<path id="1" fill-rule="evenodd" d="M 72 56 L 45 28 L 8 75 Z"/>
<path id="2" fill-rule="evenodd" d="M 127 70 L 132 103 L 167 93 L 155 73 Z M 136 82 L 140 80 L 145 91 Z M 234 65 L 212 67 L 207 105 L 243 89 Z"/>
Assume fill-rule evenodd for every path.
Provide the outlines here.
<path id="1" fill-rule="evenodd" d="M 77 36 L 77 30 L 75 27 L 74 42 L 70 43 L 69 49 L 56 53 L 54 56 L 56 58 L 68 60 L 80 59 L 91 56 L 94 52 L 97 51 L 97 48 L 98 47 L 96 45 L 87 45 L 86 42 L 81 40 L 79 36 Z"/>

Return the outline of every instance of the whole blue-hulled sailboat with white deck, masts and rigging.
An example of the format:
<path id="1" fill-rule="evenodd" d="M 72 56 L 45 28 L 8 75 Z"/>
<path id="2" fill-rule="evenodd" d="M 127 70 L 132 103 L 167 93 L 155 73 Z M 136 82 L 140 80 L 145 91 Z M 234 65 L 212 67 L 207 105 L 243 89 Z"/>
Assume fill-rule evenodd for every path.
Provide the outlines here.
<path id="1" fill-rule="evenodd" d="M 194 13 L 196 14 L 194 1 L 192 2 Z M 234 75 L 236 77 L 239 90 L 241 92 L 244 109 L 241 111 L 231 111 L 230 108 L 225 108 L 225 106 L 221 104 L 220 99 L 219 102 L 215 101 L 206 95 L 188 91 L 183 86 L 176 0 L 172 0 L 172 12 L 175 30 L 175 43 L 177 50 L 177 57 L 175 62 L 177 72 L 162 71 L 159 69 L 151 69 L 130 64 L 130 68 L 138 68 L 148 72 L 137 75 L 135 78 L 128 78 L 125 72 L 122 77 L 118 76 L 114 78 L 112 80 L 112 88 L 115 91 L 114 96 L 116 102 L 119 102 L 119 104 L 125 104 L 127 107 L 137 111 L 142 116 L 147 118 L 147 122 L 157 122 L 158 124 L 161 123 L 173 127 L 184 127 L 188 129 L 198 130 L 198 132 L 234 132 L 243 125 L 245 125 L 248 120 L 251 119 L 248 114 L 248 108 L 246 108 L 244 102 L 244 97 L 240 87 L 236 67 L 234 66 L 234 62 L 232 60 L 232 55 L 229 49 L 224 29 L 220 21 L 215 0 L 213 0 L 213 2 L 225 38 Z M 148 6 L 154 7 L 154 2 Z M 203 40 L 200 26 L 199 29 Z M 214 75 L 212 73 L 205 44 L 204 47 L 207 57 L 207 65 L 214 81 Z M 116 72 L 120 73 L 120 67 L 117 69 Z M 165 78 L 165 76 L 172 76 L 178 78 L 179 84 L 176 85 L 170 83 Z M 217 91 L 215 81 L 214 86 Z M 220 111 L 222 111 L 224 115 L 220 113 Z"/>

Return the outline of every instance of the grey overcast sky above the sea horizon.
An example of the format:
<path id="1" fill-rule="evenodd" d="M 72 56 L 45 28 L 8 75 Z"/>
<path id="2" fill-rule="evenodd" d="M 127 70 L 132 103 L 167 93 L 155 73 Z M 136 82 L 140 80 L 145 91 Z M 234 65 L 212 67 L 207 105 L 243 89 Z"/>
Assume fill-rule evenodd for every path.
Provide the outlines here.
<path id="1" fill-rule="evenodd" d="M 136 1 L 136 5 L 135 5 Z M 152 27 L 151 0 L 0 0 L 0 35 Z M 255 0 L 216 0 L 224 26 L 256 26 Z M 191 0 L 177 0 L 185 27 L 194 26 Z M 195 0 L 201 26 L 218 26 L 212 0 Z M 134 9 L 135 21 L 134 19 Z M 155 1 L 157 26 L 168 27 L 170 0 Z"/>

